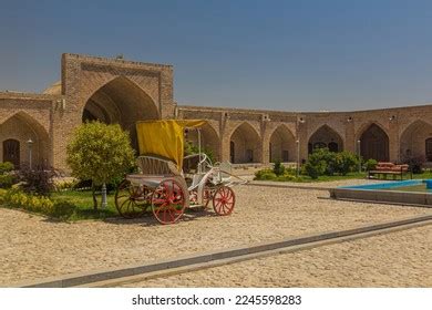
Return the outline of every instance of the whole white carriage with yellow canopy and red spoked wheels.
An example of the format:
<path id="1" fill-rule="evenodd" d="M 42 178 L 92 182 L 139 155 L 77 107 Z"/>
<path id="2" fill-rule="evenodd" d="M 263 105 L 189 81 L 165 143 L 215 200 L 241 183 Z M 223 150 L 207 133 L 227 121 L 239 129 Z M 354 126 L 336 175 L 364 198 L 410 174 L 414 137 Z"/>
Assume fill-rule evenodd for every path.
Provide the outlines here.
<path id="1" fill-rule="evenodd" d="M 233 213 L 233 186 L 245 180 L 230 173 L 230 164 L 213 164 L 202 152 L 199 127 L 205 121 L 166 120 L 136 124 L 140 173 L 128 174 L 115 193 L 115 206 L 125 218 L 152 211 L 162 224 L 178 221 L 187 208 L 217 215 Z M 198 154 L 184 156 L 185 130 L 196 130 Z"/>

